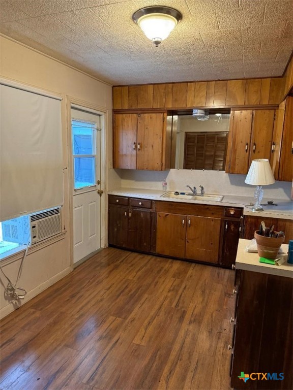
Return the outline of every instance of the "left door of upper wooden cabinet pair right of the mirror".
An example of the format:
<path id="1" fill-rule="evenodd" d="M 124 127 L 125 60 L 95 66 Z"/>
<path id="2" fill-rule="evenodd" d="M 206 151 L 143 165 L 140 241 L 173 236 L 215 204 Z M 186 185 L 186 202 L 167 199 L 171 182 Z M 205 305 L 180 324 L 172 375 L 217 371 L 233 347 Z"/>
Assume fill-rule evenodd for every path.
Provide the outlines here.
<path id="1" fill-rule="evenodd" d="M 230 117 L 226 173 L 248 172 L 252 113 L 252 110 L 234 111 Z"/>

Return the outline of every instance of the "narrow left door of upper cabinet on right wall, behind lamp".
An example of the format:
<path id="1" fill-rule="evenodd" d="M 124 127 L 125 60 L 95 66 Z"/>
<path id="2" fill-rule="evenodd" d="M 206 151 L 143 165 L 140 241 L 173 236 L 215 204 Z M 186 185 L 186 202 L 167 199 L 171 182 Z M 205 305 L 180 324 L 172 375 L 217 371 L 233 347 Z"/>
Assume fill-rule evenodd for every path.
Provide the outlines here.
<path id="1" fill-rule="evenodd" d="M 276 110 L 275 122 L 274 122 L 274 132 L 272 140 L 272 152 L 270 158 L 270 164 L 272 171 L 276 180 L 279 177 L 279 165 L 281 158 L 281 145 L 282 145 L 282 136 L 283 136 L 283 126 L 285 118 L 285 103 L 283 101 L 278 110 Z"/>

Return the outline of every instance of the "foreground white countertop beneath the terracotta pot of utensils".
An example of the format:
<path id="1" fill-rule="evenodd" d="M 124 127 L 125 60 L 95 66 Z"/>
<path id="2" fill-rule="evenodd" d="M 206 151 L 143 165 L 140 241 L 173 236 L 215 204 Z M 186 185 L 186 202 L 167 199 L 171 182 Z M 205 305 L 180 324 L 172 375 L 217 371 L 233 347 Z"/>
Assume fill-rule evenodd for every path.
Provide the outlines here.
<path id="1" fill-rule="evenodd" d="M 258 253 L 245 251 L 245 247 L 249 243 L 250 240 L 239 239 L 235 263 L 236 269 L 293 278 L 293 264 L 289 264 L 287 261 L 281 266 L 259 263 Z M 288 245 L 282 244 L 281 248 L 285 254 L 280 254 L 278 257 L 285 257 L 287 260 Z"/>

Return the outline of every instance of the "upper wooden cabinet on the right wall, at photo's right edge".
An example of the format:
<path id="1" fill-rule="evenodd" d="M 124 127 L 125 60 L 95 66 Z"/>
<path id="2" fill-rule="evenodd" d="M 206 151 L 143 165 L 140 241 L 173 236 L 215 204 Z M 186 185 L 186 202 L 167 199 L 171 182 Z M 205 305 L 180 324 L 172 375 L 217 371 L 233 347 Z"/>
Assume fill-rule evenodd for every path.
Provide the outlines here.
<path id="1" fill-rule="evenodd" d="M 293 174 L 293 98 L 287 96 L 276 110 L 271 166 L 276 180 L 292 181 Z"/>

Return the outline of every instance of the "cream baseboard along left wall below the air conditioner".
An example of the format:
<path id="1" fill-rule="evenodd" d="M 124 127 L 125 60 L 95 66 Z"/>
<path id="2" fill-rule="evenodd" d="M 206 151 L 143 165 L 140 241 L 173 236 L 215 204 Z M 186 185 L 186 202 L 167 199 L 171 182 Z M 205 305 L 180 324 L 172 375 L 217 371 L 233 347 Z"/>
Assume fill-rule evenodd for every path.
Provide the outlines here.
<path id="1" fill-rule="evenodd" d="M 46 280 L 44 283 L 35 287 L 33 290 L 28 291 L 28 293 L 26 294 L 26 296 L 23 300 L 19 300 L 17 302 L 10 302 L 8 305 L 4 306 L 0 310 L 0 319 L 6 317 L 8 314 L 12 313 L 14 310 L 17 310 L 19 307 L 23 306 L 26 302 L 35 298 L 37 295 L 42 293 L 42 291 L 44 291 L 46 288 L 50 287 L 51 285 L 56 283 L 58 280 L 64 278 L 64 276 L 66 276 L 69 273 L 70 273 L 70 267 L 67 267 L 63 271 L 59 272 L 58 274 L 52 276 L 50 279 Z"/>

